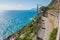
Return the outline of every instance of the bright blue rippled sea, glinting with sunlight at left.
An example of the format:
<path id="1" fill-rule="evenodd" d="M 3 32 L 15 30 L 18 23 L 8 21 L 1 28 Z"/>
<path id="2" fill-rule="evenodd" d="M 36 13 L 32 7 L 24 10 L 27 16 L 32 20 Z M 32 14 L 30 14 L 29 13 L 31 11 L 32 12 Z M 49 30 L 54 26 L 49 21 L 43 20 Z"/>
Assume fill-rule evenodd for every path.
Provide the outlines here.
<path id="1" fill-rule="evenodd" d="M 35 10 L 6 10 L 0 12 L 0 40 L 19 31 L 37 15 Z"/>

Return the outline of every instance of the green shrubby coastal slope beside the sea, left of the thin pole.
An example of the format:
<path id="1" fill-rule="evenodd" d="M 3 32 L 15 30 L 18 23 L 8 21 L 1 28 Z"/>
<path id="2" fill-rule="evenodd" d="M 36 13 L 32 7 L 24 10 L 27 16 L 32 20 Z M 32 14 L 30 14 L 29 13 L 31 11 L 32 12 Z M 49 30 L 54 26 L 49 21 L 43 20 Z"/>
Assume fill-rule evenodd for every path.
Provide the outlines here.
<path id="1" fill-rule="evenodd" d="M 32 21 L 29 24 L 24 26 L 18 32 L 13 33 L 12 35 L 8 36 L 5 40 L 10 40 L 10 39 L 15 39 L 15 38 L 20 39 L 20 40 L 24 40 L 26 38 L 29 40 L 32 40 L 33 37 L 36 35 L 36 20 L 37 20 L 37 18 L 38 18 L 38 16 L 35 16 L 35 18 L 32 19 Z"/>

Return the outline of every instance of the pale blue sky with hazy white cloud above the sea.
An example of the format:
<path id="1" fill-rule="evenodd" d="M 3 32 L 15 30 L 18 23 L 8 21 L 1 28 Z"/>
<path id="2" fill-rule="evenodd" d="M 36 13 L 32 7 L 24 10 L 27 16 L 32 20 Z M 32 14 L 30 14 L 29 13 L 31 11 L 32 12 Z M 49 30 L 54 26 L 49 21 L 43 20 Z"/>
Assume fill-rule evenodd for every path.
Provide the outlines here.
<path id="1" fill-rule="evenodd" d="M 39 6 L 46 6 L 51 0 L 0 0 L 0 10 L 29 10 Z"/>

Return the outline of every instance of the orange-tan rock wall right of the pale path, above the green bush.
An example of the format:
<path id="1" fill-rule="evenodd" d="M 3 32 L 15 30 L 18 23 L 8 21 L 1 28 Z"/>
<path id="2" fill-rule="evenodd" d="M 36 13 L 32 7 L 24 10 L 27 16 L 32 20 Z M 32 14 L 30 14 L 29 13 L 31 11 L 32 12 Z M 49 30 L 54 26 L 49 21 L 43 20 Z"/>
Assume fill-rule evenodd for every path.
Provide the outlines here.
<path id="1" fill-rule="evenodd" d="M 49 21 L 51 27 L 57 28 L 58 27 L 58 18 L 59 18 L 58 10 L 48 10 L 47 13 L 48 13 L 47 20 Z"/>

